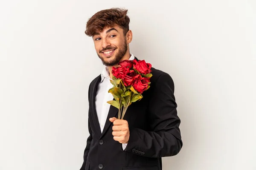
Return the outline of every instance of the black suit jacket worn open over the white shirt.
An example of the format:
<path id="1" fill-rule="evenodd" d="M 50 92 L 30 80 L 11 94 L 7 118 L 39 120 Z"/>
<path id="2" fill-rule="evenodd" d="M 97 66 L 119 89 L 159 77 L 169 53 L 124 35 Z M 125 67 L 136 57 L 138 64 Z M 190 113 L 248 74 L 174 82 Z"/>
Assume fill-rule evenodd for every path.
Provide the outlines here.
<path id="1" fill-rule="evenodd" d="M 162 170 L 161 157 L 179 153 L 182 141 L 174 82 L 169 74 L 155 68 L 151 70 L 151 87 L 143 92 L 140 101 L 128 107 L 124 116 L 130 130 L 125 150 L 122 149 L 122 144 L 113 139 L 113 123 L 109 118 L 118 117 L 118 109 L 112 105 L 101 133 L 95 108 L 95 96 L 101 76 L 90 83 L 90 136 L 87 139 L 84 162 L 80 170 Z"/>

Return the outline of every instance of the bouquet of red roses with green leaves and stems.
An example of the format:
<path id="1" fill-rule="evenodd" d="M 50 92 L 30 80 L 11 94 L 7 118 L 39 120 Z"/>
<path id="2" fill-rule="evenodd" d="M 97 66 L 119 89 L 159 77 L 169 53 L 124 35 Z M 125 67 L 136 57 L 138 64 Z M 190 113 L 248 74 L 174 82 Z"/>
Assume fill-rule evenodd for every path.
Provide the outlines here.
<path id="1" fill-rule="evenodd" d="M 115 100 L 108 103 L 118 108 L 118 119 L 123 119 L 128 106 L 143 98 L 142 93 L 150 87 L 152 74 L 151 64 L 145 60 L 123 60 L 118 65 L 112 68 L 113 88 L 108 91 Z"/>

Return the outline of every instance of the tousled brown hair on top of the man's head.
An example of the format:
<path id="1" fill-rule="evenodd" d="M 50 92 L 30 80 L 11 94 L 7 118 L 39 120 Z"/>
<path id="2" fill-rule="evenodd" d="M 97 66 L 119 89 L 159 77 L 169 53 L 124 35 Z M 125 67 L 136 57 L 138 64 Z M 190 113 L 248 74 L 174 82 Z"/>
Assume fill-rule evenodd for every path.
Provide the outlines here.
<path id="1" fill-rule="evenodd" d="M 126 35 L 127 31 L 129 31 L 130 23 L 127 11 L 127 9 L 110 8 L 97 12 L 87 21 L 84 33 L 91 37 L 96 33 L 102 32 L 105 27 L 118 25 L 123 29 L 124 35 Z"/>

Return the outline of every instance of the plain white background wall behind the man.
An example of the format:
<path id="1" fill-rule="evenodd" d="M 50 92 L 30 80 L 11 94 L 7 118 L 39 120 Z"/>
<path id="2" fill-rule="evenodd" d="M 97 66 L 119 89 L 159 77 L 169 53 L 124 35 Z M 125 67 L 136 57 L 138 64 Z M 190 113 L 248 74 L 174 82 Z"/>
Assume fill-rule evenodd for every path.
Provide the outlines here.
<path id="1" fill-rule="evenodd" d="M 175 82 L 183 148 L 163 170 L 256 170 L 255 0 L 1 1 L 0 170 L 79 170 L 103 68 L 84 31 L 111 7 Z"/>

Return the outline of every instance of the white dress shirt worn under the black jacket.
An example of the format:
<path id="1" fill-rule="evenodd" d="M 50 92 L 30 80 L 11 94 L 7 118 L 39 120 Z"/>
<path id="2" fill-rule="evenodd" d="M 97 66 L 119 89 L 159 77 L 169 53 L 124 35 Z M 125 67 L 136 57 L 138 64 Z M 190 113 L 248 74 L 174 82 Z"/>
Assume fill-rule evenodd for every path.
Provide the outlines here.
<path id="1" fill-rule="evenodd" d="M 129 60 L 134 60 L 133 54 L 131 54 Z M 109 77 L 108 67 L 105 66 L 101 74 L 101 81 L 99 82 L 95 98 L 96 112 L 101 132 L 103 131 L 105 122 L 109 121 L 106 120 L 110 108 L 110 104 L 108 104 L 107 102 L 113 100 L 113 95 L 111 93 L 108 93 L 108 90 L 113 87 L 110 80 L 111 78 Z M 123 150 L 125 150 L 126 145 L 127 144 L 122 144 Z"/>

